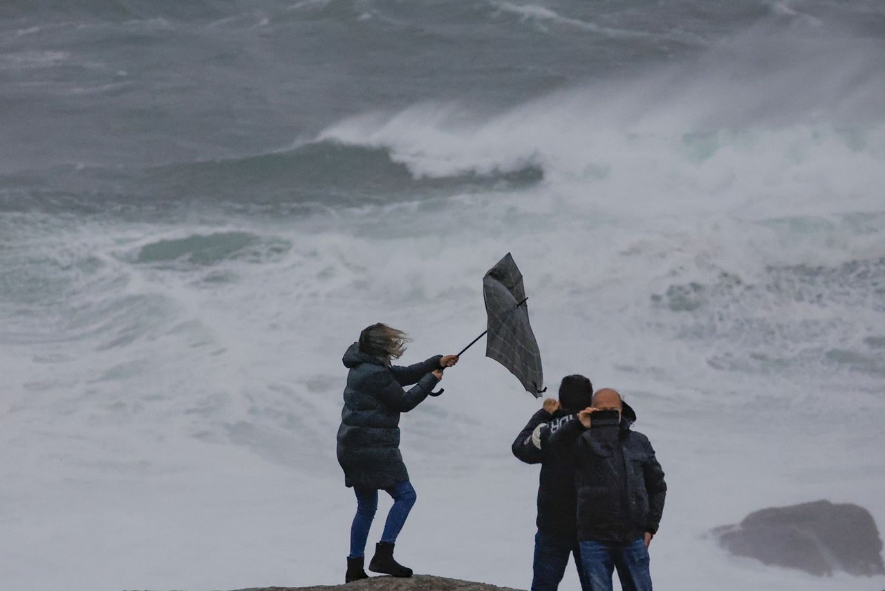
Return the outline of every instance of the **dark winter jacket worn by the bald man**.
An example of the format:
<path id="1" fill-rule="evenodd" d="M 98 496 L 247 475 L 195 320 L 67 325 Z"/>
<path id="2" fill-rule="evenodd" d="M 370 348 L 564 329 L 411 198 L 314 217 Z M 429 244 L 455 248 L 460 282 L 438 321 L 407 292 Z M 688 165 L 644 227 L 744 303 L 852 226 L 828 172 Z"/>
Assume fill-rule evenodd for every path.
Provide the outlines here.
<path id="1" fill-rule="evenodd" d="M 657 533 L 666 482 L 649 439 L 630 422 L 571 421 L 550 437 L 554 453 L 572 457 L 578 540 L 629 543 Z"/>

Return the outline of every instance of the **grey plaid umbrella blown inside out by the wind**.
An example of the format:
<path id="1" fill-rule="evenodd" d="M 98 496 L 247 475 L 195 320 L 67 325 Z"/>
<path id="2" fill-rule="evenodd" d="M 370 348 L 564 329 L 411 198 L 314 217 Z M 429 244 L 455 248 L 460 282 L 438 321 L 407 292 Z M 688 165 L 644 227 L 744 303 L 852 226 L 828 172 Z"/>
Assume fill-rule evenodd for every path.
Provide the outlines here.
<path id="1" fill-rule="evenodd" d="M 541 352 L 532 325 L 528 323 L 528 298 L 522 273 L 510 253 L 482 278 L 482 296 L 486 301 L 488 328 L 458 355 L 488 334 L 486 356 L 509 369 L 528 393 L 539 398 L 547 390 L 543 388 Z"/>

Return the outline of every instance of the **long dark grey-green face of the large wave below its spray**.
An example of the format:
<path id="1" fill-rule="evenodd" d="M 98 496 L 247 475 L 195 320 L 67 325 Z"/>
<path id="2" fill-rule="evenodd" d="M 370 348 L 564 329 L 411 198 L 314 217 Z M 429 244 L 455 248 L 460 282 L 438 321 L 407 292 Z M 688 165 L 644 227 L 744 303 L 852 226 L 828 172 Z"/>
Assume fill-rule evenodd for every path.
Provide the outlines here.
<path id="1" fill-rule="evenodd" d="M 386 147 L 319 141 L 281 152 L 135 171 L 59 167 L 51 174 L 19 173 L 5 178 L 0 211 L 106 213 L 145 207 L 162 211 L 169 204 L 202 202 L 311 212 L 473 191 L 510 191 L 542 179 L 543 168 L 533 162 L 501 169 L 465 169 L 449 175 L 420 175 Z"/>

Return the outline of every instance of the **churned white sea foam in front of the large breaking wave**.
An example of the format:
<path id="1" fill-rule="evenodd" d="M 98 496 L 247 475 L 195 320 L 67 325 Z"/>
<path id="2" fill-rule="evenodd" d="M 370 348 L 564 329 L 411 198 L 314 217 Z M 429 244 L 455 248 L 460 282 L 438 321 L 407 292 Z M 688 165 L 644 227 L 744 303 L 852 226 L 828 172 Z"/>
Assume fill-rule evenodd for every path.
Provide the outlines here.
<path id="1" fill-rule="evenodd" d="M 549 385 L 584 370 L 621 387 L 658 449 L 672 487 L 653 548 L 659 585 L 850 586 L 727 558 L 702 536 L 760 506 L 819 497 L 885 518 L 876 471 L 850 455 L 878 437 L 882 369 L 827 362 L 829 350 L 861 354 L 863 337 L 882 336 L 881 305 L 862 295 L 863 273 L 852 284 L 850 269 L 812 269 L 822 299 L 802 302 L 787 289 L 801 288 L 801 270 L 765 267 L 805 249 L 821 262 L 881 253 L 881 224 L 828 214 L 760 224 L 727 211 L 618 219 L 581 213 L 567 196 L 544 204 L 545 192 L 400 207 L 394 220 L 354 212 L 323 230 L 228 220 L 17 239 L 4 256 L 44 258 L 61 275 L 46 293 L 56 314 L 36 316 L 42 328 L 28 318 L 43 304 L 4 309 L 31 336 L 4 336 L 4 376 L 22 385 L 4 399 L 2 465 L 15 483 L 4 491 L 4 540 L 15 540 L 2 548 L 4 579 L 42 589 L 64 573 L 84 590 L 336 582 L 352 511 L 334 457 L 343 348 L 384 320 L 412 332 L 409 359 L 457 349 L 483 327 L 482 272 L 512 250 Z M 146 246 L 231 229 L 290 247 L 260 260 L 232 247 L 208 264 L 187 249 L 171 267 L 138 261 Z M 696 308 L 668 292 L 690 284 L 701 286 Z M 857 411 L 821 424 L 830 403 L 819 393 L 846 379 Z M 535 470 L 508 445 L 534 400 L 481 349 L 443 385 L 443 398 L 404 417 L 420 498 L 404 561 L 525 586 Z M 465 537 L 476 548 L 459 546 Z M 95 569 L 96 554 L 112 568 Z M 565 588 L 576 588 L 572 575 Z"/>

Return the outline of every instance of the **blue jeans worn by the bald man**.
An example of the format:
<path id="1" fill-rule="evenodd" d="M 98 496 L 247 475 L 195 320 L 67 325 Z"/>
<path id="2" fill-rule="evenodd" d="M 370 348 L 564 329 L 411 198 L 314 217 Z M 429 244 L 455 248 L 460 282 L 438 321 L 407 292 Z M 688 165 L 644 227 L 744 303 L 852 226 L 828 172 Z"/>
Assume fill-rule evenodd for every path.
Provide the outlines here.
<path id="1" fill-rule="evenodd" d="M 645 540 L 627 545 L 582 541 L 581 563 L 593 591 L 612 591 L 613 569 L 618 569 L 624 591 L 651 591 L 649 548 L 645 547 Z"/>

